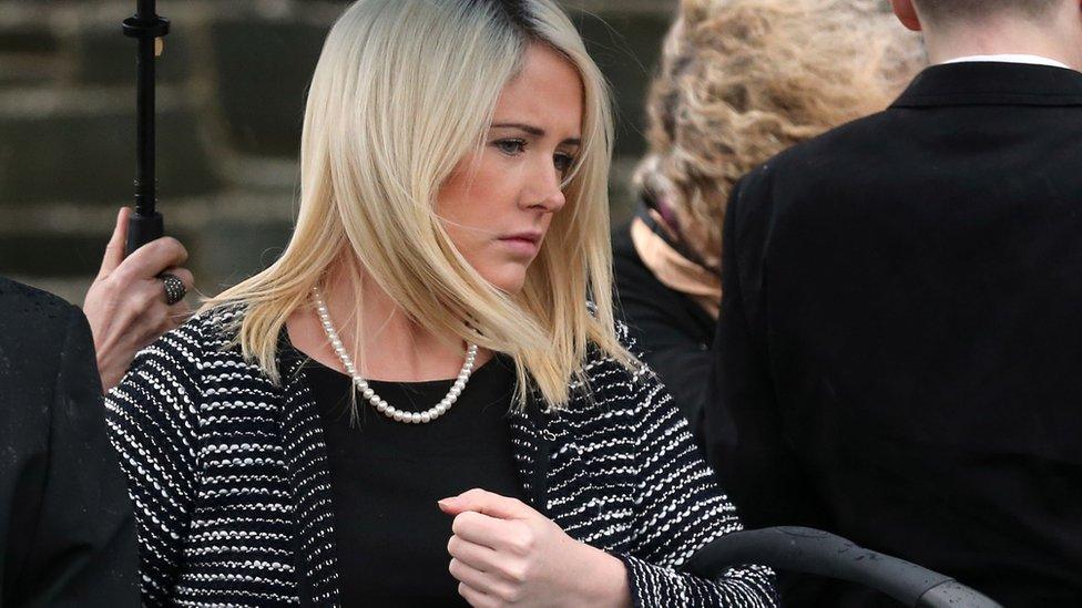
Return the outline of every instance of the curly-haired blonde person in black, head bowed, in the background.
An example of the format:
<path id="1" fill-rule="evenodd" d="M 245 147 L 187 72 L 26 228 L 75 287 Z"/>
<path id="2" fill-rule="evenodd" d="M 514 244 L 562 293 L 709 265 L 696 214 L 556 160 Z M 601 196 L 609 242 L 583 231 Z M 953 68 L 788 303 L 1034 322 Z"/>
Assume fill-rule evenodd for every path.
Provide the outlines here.
<path id="1" fill-rule="evenodd" d="M 878 0 L 683 0 L 665 40 L 635 174 L 613 234 L 622 317 L 698 431 L 733 185 L 770 156 L 882 110 L 925 62 Z"/>

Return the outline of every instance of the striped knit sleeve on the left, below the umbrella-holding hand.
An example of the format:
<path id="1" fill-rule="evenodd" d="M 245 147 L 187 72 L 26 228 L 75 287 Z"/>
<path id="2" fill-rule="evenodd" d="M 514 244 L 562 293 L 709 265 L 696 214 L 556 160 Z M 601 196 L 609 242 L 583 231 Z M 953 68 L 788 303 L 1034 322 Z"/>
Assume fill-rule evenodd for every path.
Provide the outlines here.
<path id="1" fill-rule="evenodd" d="M 169 604 L 198 484 L 202 401 L 196 321 L 140 352 L 105 400 L 110 439 L 135 507 L 143 601 Z"/>

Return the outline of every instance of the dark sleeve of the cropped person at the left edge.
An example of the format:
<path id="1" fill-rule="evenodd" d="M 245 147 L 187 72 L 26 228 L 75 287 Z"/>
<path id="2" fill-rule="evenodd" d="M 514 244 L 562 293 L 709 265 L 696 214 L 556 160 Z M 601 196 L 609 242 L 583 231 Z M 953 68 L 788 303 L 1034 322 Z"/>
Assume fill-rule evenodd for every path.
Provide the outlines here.
<path id="1" fill-rule="evenodd" d="M 62 344 L 40 508 L 13 604 L 139 606 L 131 504 L 105 434 L 90 326 L 74 307 Z"/>

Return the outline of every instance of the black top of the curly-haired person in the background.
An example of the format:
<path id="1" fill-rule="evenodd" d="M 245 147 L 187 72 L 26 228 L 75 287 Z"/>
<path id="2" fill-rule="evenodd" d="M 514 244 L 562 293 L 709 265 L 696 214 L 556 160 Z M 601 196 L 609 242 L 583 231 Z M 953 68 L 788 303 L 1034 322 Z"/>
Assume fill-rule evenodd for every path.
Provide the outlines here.
<path id="1" fill-rule="evenodd" d="M 652 220 L 645 214 L 647 226 Z M 656 233 L 657 230 L 655 230 Z M 707 378 L 714 358 L 715 321 L 685 293 L 670 289 L 646 268 L 631 238 L 630 224 L 612 233 L 616 318 L 643 352 L 645 362 L 673 394 L 681 413 L 698 439 Z"/>

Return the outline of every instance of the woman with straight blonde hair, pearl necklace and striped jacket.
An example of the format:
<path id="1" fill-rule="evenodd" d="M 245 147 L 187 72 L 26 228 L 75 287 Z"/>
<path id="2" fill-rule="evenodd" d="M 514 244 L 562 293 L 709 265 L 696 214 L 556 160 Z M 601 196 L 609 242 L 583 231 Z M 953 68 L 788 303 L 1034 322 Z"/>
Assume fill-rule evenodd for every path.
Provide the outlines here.
<path id="1" fill-rule="evenodd" d="M 739 522 L 610 312 L 603 82 L 551 0 L 345 12 L 289 246 L 109 399 L 149 605 L 774 604 L 681 571 Z"/>

